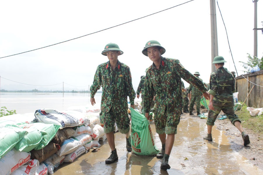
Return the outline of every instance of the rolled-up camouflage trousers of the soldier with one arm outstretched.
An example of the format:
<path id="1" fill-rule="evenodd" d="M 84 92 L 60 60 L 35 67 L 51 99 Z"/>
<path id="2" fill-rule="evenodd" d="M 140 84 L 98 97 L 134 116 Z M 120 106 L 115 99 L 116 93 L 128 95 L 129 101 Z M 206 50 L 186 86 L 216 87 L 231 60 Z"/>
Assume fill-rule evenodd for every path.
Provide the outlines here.
<path id="1" fill-rule="evenodd" d="M 157 134 L 177 134 L 177 125 L 180 122 L 180 114 L 182 109 L 177 109 L 172 113 L 161 114 L 154 111 L 154 124 Z"/>

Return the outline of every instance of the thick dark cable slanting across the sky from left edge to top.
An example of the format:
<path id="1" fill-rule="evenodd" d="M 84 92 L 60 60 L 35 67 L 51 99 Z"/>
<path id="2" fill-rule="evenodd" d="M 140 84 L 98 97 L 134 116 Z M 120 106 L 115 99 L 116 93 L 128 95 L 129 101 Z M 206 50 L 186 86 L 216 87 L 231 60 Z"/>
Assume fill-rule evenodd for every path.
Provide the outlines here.
<path id="1" fill-rule="evenodd" d="M 191 0 L 191 1 L 194 1 L 194 0 Z M 188 3 L 188 2 L 191 2 L 191 1 L 187 1 L 187 2 L 181 3 L 181 4 L 177 5 L 177 6 L 181 6 L 181 5 L 186 4 L 186 3 Z M 167 8 L 167 9 L 165 9 L 165 10 L 169 10 L 169 9 L 174 8 L 174 7 L 177 7 L 177 6 L 173 6 L 173 7 Z M 54 46 L 54 45 L 61 44 L 61 43 L 65 43 L 65 42 L 68 42 L 68 41 L 71 41 L 71 40 L 74 40 L 74 39 L 82 38 L 82 37 L 84 37 L 84 36 L 88 36 L 88 35 L 91 35 L 91 34 L 96 34 L 96 33 L 98 33 L 98 32 L 104 31 L 104 30 L 108 30 L 108 29 L 111 29 L 111 28 L 114 28 L 114 27 L 118 27 L 118 26 L 123 25 L 123 24 L 127 24 L 127 23 L 129 23 L 129 22 L 133 22 L 133 21 L 136 21 L 136 20 L 140 20 L 140 19 L 142 19 L 142 18 L 151 16 L 151 15 L 155 15 L 155 14 L 160 13 L 160 12 L 163 12 L 163 11 L 165 11 L 165 10 L 161 10 L 161 11 L 152 13 L 152 14 L 150 14 L 150 15 L 146 15 L 146 16 L 137 18 L 137 19 L 135 19 L 135 20 L 131 20 L 131 21 L 128 21 L 128 22 L 124 22 L 124 23 L 122 23 L 122 24 L 118 24 L 118 25 L 115 25 L 115 26 L 113 26 L 113 27 L 109 27 L 109 28 L 106 28 L 106 29 L 102 29 L 102 30 L 99 30 L 99 31 L 95 31 L 95 32 L 90 33 L 90 34 L 86 34 L 86 35 L 83 35 L 83 36 L 79 36 L 79 37 L 77 37 L 77 38 L 69 39 L 69 40 L 67 40 L 67 41 L 62 41 L 62 42 L 59 42 L 59 43 L 56 43 L 56 44 L 51 44 L 51 45 L 49 45 L 49 46 L 45 46 L 45 47 L 41 47 L 41 48 L 29 50 L 29 51 L 26 51 L 26 52 L 21 52 L 21 53 L 17 53 L 17 54 L 5 56 L 5 57 L 11 57 L 11 56 L 14 56 L 14 55 L 19 55 L 19 54 L 31 52 L 31 51 L 34 51 L 34 50 L 39 50 L 39 49 L 47 48 L 47 47 Z M 0 57 L 0 58 L 5 58 L 5 57 Z"/>

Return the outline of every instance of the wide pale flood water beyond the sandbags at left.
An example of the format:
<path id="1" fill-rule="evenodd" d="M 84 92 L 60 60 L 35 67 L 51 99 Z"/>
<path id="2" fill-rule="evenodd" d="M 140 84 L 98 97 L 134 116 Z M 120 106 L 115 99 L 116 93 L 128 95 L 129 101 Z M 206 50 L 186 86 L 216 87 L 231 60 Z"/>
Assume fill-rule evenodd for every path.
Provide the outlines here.
<path id="1" fill-rule="evenodd" d="M 96 105 L 100 105 L 101 93 L 95 95 Z M 37 109 L 49 108 L 59 111 L 71 106 L 90 105 L 89 93 L 3 93 L 0 94 L 0 108 L 16 110 L 16 113 L 33 113 Z"/>

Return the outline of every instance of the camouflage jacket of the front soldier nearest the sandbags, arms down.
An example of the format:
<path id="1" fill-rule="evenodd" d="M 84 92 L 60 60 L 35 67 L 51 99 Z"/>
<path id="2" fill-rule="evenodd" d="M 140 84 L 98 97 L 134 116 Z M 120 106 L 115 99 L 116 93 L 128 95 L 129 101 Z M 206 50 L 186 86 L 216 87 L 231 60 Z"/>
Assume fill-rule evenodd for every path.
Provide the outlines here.
<path id="1" fill-rule="evenodd" d="M 130 68 L 118 61 L 114 70 L 110 62 L 98 65 L 93 84 L 90 87 L 91 98 L 102 86 L 101 110 L 120 112 L 128 109 L 127 96 L 131 105 L 134 104 L 135 91 L 131 83 Z"/>

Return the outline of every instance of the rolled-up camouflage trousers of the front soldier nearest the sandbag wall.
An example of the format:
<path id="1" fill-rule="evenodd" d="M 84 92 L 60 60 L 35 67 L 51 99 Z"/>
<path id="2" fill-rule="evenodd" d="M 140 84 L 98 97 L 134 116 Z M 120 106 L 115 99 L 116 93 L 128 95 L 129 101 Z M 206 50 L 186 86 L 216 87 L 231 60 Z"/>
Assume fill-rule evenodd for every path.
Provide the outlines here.
<path id="1" fill-rule="evenodd" d="M 100 122 L 104 125 L 104 132 L 110 133 L 115 130 L 115 122 L 117 127 L 122 134 L 126 134 L 130 130 L 130 119 L 126 111 L 110 112 L 101 111 L 100 112 Z"/>

